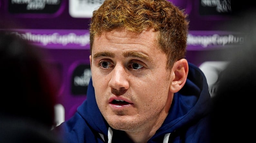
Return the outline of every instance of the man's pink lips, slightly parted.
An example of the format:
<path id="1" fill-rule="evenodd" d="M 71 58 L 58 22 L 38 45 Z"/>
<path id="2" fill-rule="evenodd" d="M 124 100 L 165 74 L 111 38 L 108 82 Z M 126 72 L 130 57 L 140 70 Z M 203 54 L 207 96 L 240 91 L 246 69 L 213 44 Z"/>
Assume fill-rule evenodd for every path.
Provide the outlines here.
<path id="1" fill-rule="evenodd" d="M 122 110 L 128 107 L 132 107 L 133 103 L 123 97 L 111 97 L 109 99 L 109 105 L 116 110 Z"/>

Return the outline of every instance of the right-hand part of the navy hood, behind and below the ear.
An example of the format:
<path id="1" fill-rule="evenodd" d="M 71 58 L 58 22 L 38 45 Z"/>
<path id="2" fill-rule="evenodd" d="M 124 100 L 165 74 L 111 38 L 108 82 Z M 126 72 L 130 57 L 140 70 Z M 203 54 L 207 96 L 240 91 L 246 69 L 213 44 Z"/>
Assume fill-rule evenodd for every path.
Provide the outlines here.
<path id="1" fill-rule="evenodd" d="M 198 67 L 189 63 L 184 87 L 174 94 L 168 116 L 150 140 L 198 122 L 209 115 L 210 109 L 211 96 L 205 75 Z"/>

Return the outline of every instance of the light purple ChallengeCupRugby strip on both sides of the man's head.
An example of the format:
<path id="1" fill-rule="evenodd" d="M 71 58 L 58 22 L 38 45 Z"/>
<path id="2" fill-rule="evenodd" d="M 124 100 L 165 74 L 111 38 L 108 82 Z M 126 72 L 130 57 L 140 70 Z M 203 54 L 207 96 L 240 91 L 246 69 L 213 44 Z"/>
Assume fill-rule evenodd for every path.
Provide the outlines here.
<path id="1" fill-rule="evenodd" d="M 13 30 L 28 41 L 50 49 L 90 49 L 89 30 L 17 29 Z M 231 31 L 189 31 L 187 50 L 213 50 L 241 46 L 245 34 Z"/>

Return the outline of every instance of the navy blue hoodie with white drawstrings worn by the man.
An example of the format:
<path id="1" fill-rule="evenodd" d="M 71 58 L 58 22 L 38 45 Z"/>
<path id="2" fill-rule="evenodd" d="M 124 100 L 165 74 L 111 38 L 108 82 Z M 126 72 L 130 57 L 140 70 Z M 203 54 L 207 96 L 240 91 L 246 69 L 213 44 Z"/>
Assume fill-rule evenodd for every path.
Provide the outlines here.
<path id="1" fill-rule="evenodd" d="M 162 126 L 147 143 L 208 143 L 211 97 L 202 71 L 189 63 L 184 87 L 174 99 Z M 132 143 L 124 131 L 109 127 L 95 100 L 92 81 L 87 99 L 69 120 L 57 127 L 67 143 Z"/>

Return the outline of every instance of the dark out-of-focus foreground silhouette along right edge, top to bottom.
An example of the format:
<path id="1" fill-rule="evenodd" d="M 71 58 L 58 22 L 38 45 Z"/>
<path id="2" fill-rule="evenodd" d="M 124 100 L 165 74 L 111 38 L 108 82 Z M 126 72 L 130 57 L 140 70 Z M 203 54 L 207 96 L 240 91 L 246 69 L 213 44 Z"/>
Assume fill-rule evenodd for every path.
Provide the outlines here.
<path id="1" fill-rule="evenodd" d="M 234 5 L 236 24 L 227 23 L 245 35 L 245 43 L 231 57 L 219 77 L 213 97 L 212 143 L 251 142 L 255 129 L 256 20 L 255 5 Z"/>

